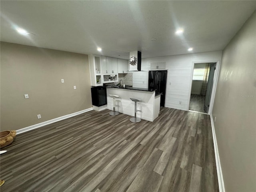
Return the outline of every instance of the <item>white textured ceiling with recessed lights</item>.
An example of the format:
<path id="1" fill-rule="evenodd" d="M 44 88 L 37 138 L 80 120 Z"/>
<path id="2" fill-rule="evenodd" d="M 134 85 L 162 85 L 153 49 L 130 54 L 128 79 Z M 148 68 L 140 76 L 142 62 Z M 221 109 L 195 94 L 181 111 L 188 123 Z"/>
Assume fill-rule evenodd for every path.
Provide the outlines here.
<path id="1" fill-rule="evenodd" d="M 223 50 L 256 1 L 0 1 L 1 41 L 142 58 Z M 35 35 L 22 36 L 15 27 Z M 175 34 L 183 28 L 181 36 Z M 156 38 L 152 41 L 152 38 Z M 102 48 L 102 52 L 97 51 Z M 120 56 L 118 56 L 120 55 Z"/>

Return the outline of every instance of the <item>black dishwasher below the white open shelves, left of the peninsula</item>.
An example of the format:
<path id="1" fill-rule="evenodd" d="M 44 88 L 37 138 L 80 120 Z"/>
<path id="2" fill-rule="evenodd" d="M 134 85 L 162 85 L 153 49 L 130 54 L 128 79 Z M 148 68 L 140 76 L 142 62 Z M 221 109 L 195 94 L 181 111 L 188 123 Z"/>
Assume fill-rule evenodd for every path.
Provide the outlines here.
<path id="1" fill-rule="evenodd" d="M 107 104 L 107 90 L 106 87 L 97 86 L 91 87 L 92 105 L 100 107 Z"/>

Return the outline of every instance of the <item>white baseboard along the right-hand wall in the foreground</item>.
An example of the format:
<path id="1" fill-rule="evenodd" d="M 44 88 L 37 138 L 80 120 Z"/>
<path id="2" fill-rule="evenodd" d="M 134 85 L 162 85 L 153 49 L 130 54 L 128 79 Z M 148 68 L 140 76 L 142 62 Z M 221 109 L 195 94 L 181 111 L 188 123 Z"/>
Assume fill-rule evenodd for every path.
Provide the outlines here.
<path id="1" fill-rule="evenodd" d="M 218 151 L 218 144 L 216 140 L 215 128 L 213 123 L 212 114 L 210 114 L 211 125 L 212 125 L 212 137 L 213 137 L 213 145 L 214 145 L 214 154 L 215 154 L 215 161 L 216 161 L 216 168 L 217 168 L 217 175 L 218 175 L 218 183 L 219 183 L 219 190 L 220 192 L 225 192 L 224 180 L 222 176 L 222 170 L 220 165 L 220 156 Z"/>

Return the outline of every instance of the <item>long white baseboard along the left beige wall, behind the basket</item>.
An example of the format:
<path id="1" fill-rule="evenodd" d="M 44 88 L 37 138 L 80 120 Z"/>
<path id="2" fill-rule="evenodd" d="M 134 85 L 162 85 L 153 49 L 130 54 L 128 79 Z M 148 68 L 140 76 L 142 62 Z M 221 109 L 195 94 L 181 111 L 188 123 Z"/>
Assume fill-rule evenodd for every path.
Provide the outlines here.
<path id="1" fill-rule="evenodd" d="M 70 117 L 73 117 L 73 116 L 76 116 L 76 115 L 79 115 L 81 113 L 85 113 L 85 112 L 88 112 L 88 111 L 91 111 L 91 110 L 92 110 L 92 108 L 88 108 L 88 109 L 78 111 L 78 112 L 75 112 L 75 113 L 72 113 L 72 114 L 64 115 L 64 116 L 61 116 L 61 117 L 57 117 L 55 119 L 51 119 L 51 120 L 48 120 L 48 121 L 45 121 L 45 122 L 41 122 L 41 123 L 38 123 L 38 124 L 35 124 L 35 125 L 32 125 L 32 126 L 28 126 L 28 127 L 17 130 L 16 134 L 20 134 L 20 133 L 24 133 L 24 132 L 27 132 L 27 131 L 30 131 L 30 130 L 33 130 L 33 129 L 36 129 L 36 128 L 40 128 L 42 126 L 45 126 L 45 125 L 48 125 L 48 124 L 51 124 L 51 123 L 54 123 L 54 122 L 57 122 L 57 121 L 60 121 L 60 120 L 66 119 L 66 118 L 70 118 Z"/>

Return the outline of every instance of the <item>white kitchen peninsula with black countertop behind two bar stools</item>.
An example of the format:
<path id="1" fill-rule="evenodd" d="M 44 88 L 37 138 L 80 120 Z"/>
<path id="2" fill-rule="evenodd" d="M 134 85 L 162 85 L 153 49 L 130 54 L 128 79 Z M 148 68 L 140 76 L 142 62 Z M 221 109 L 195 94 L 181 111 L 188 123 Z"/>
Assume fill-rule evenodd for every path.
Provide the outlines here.
<path id="1" fill-rule="evenodd" d="M 137 117 L 154 121 L 160 111 L 160 95 L 155 95 L 155 90 L 148 90 L 145 88 L 106 86 L 107 87 L 107 108 L 113 110 L 113 99 L 109 96 L 118 95 L 116 98 L 115 110 L 130 116 L 134 116 L 134 102 L 130 98 L 141 100 L 137 102 Z"/>

